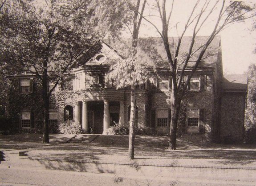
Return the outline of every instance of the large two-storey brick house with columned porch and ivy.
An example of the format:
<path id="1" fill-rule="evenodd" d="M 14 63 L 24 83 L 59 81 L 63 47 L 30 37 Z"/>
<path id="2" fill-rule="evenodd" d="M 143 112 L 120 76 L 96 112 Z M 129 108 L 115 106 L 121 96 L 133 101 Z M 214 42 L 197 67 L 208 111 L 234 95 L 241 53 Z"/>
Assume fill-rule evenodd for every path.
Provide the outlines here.
<path id="1" fill-rule="evenodd" d="M 181 54 L 187 49 L 190 37 L 184 38 Z M 206 37 L 198 37 L 199 45 Z M 165 135 L 170 128 L 168 91 L 171 89 L 169 69 L 166 66 L 163 45 L 154 39 L 155 50 L 163 60 L 156 62 L 158 76 L 153 83 L 136 86 L 136 126 L 149 127 L 157 135 Z M 170 38 L 175 49 L 177 38 Z M 108 43 L 108 44 L 107 44 Z M 100 42 L 91 47 L 76 63 L 72 83 L 58 86 L 52 96 L 49 123 L 55 125 L 65 120 L 75 120 L 88 132 L 106 134 L 114 123 L 128 125 L 130 118 L 129 87 L 115 89 L 105 81 L 109 67 L 122 58 L 111 46 L 114 40 Z M 220 37 L 216 37 L 185 93 L 183 120 L 179 121 L 179 135 L 200 138 L 203 143 L 237 142 L 243 138 L 244 104 L 247 89 L 245 76 L 224 76 Z M 189 63 L 189 74 L 193 62 Z M 186 78 L 186 77 L 185 77 Z M 37 130 L 42 127 L 40 86 L 33 74 L 20 74 L 9 78 L 8 113 L 15 118 L 16 127 Z M 52 86 L 49 84 L 49 87 Z"/>

